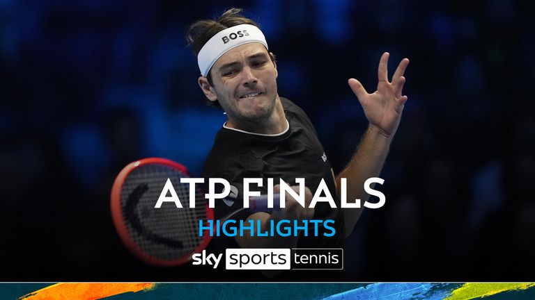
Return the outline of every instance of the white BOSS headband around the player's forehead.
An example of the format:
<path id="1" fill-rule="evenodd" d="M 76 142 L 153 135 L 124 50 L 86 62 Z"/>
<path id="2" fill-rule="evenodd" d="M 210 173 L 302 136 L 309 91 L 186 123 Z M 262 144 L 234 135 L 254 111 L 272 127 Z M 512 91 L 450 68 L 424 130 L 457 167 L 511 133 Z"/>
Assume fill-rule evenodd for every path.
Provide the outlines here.
<path id="1" fill-rule="evenodd" d="M 199 55 L 197 55 L 197 62 L 199 63 L 201 74 L 206 77 L 210 68 L 215 64 L 215 61 L 222 57 L 228 50 L 251 42 L 259 42 L 267 49 L 264 34 L 256 26 L 240 24 L 219 31 L 219 33 L 204 44 L 201 51 L 199 51 Z"/>

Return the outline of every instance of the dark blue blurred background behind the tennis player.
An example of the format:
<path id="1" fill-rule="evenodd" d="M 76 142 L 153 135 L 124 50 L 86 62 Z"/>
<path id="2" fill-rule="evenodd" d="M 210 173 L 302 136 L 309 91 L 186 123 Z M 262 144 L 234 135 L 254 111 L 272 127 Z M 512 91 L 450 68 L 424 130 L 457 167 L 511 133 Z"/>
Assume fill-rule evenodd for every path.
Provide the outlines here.
<path id="1" fill-rule="evenodd" d="M 0 1 L 0 280 L 187 281 L 137 262 L 109 192 L 137 158 L 200 176 L 222 111 L 204 104 L 185 28 L 245 8 L 334 171 L 372 92 L 411 60 L 381 177 L 387 203 L 347 240 L 353 281 L 534 280 L 535 2 Z M 219 278 L 219 281 L 224 278 Z M 295 278 L 298 281 L 298 278 Z"/>

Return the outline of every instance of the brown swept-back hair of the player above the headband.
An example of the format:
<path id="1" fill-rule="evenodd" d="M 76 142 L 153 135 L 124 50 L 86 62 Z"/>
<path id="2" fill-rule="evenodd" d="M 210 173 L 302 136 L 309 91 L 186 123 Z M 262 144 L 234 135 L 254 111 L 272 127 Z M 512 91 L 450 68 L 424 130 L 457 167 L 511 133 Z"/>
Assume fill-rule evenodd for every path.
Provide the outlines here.
<path id="1" fill-rule="evenodd" d="M 231 8 L 223 12 L 221 17 L 217 19 L 202 19 L 190 24 L 186 31 L 186 40 L 187 44 L 192 47 L 195 56 L 199 55 L 199 51 L 201 51 L 204 44 L 206 44 L 206 42 L 208 42 L 214 35 L 219 33 L 219 31 L 240 24 L 249 24 L 260 28 L 256 22 L 241 15 L 240 13 L 242 11 L 242 8 Z M 270 58 L 272 61 L 275 61 L 275 55 L 271 52 Z M 210 69 L 206 75 L 206 79 L 208 80 L 208 83 L 213 86 L 212 76 L 210 74 L 211 71 L 212 70 Z M 209 106 L 221 108 L 219 101 L 207 100 L 207 103 Z"/>

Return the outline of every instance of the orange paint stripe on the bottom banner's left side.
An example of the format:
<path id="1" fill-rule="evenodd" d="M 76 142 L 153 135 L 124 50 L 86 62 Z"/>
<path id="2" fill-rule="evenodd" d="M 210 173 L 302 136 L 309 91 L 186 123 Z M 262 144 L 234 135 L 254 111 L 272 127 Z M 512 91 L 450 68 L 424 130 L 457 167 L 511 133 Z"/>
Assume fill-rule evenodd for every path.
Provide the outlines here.
<path id="1" fill-rule="evenodd" d="M 26 294 L 19 300 L 97 300 L 125 292 L 147 290 L 154 285 L 154 283 L 56 283 Z"/>

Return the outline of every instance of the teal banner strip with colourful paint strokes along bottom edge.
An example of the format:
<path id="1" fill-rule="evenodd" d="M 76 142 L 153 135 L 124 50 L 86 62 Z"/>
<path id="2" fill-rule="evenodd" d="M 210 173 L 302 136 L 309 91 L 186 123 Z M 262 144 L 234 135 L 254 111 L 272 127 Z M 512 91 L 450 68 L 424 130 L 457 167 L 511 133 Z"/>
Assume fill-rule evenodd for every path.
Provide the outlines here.
<path id="1" fill-rule="evenodd" d="M 535 299 L 535 283 L 3 283 L 1 299 Z"/>

